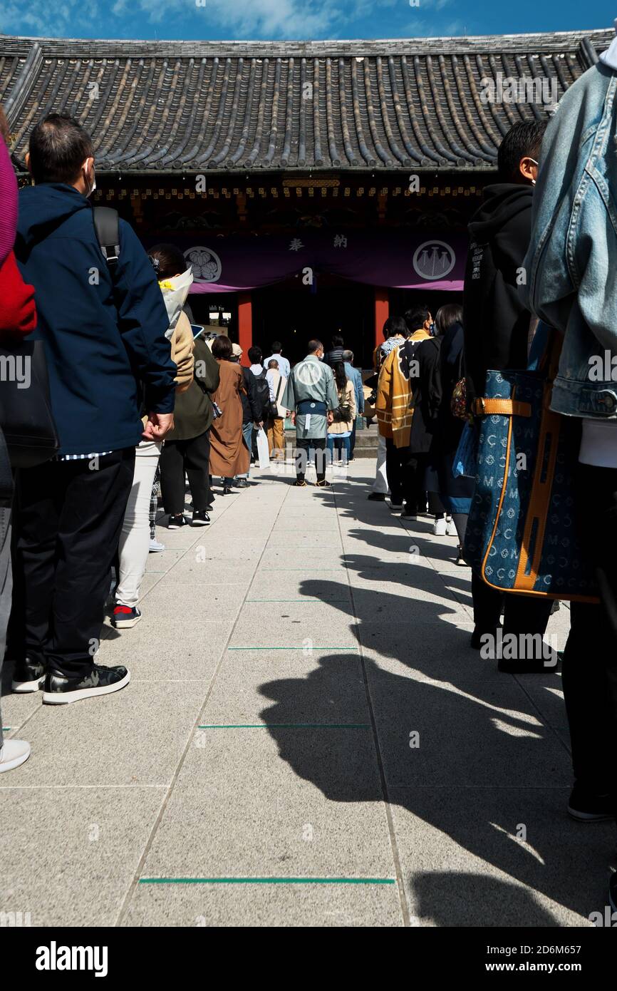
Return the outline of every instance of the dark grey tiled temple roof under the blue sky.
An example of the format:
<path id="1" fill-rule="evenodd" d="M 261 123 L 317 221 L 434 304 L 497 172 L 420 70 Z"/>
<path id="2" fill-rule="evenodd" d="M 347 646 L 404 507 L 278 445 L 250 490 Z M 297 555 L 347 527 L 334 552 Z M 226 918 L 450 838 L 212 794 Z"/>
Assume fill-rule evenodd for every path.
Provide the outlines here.
<path id="1" fill-rule="evenodd" d="M 310 43 L 0 36 L 0 100 L 19 159 L 37 120 L 64 111 L 92 134 L 102 171 L 477 170 L 494 166 L 513 123 L 549 112 L 543 102 L 486 101 L 482 80 L 544 78 L 559 99 L 613 37 L 612 29 Z"/>

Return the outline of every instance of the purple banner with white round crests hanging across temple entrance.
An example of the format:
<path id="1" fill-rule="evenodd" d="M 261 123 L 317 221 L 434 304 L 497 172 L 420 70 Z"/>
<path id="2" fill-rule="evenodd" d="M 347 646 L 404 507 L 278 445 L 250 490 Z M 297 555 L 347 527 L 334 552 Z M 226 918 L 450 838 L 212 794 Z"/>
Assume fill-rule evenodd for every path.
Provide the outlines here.
<path id="1" fill-rule="evenodd" d="M 408 289 L 463 289 L 467 242 L 463 234 L 379 228 L 302 230 L 292 235 L 172 235 L 193 266 L 191 292 L 235 292 L 298 276 L 319 275 Z"/>

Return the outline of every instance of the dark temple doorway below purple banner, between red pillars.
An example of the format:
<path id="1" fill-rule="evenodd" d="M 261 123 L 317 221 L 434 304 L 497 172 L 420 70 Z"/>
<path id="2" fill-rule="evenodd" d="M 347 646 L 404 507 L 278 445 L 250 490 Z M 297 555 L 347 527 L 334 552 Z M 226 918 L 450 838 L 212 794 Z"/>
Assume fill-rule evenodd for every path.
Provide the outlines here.
<path id="1" fill-rule="evenodd" d="M 314 287 L 300 279 L 253 292 L 253 341 L 269 355 L 280 341 L 290 362 L 306 355 L 306 345 L 318 338 L 326 350 L 333 334 L 341 333 L 354 352 L 357 367 L 371 368 L 374 348 L 374 290 L 370 285 L 320 275 Z"/>

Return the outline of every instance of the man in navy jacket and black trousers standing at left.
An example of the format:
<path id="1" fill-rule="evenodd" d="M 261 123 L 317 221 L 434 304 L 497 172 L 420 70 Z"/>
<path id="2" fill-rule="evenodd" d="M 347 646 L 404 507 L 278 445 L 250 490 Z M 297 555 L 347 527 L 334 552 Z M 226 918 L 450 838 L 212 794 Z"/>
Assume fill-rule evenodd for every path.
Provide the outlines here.
<path id="1" fill-rule="evenodd" d="M 44 702 L 61 704 L 130 680 L 93 656 L 135 447 L 172 427 L 176 368 L 154 270 L 131 227 L 120 221 L 113 273 L 101 252 L 89 135 L 51 114 L 31 135 L 27 164 L 35 185 L 20 193 L 15 252 L 36 290 L 33 339 L 45 342 L 60 447 L 18 483 L 13 689 L 42 687 Z"/>

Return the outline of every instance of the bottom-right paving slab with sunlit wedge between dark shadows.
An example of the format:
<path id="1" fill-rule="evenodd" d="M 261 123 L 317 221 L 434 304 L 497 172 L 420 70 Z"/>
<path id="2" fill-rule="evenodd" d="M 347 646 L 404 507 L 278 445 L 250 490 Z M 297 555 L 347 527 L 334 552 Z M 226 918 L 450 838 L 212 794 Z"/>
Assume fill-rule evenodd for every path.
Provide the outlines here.
<path id="1" fill-rule="evenodd" d="M 566 816 L 566 788 L 392 789 L 416 925 L 589 926 L 603 911 L 613 826 Z M 523 939 L 523 941 L 525 941 Z"/>

